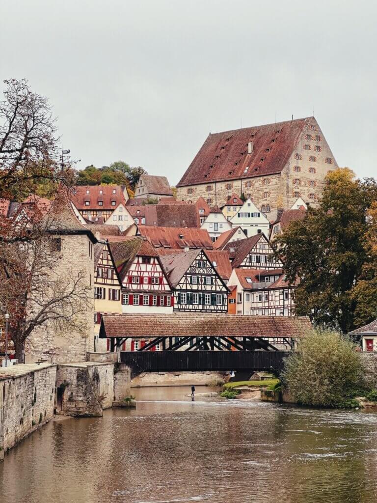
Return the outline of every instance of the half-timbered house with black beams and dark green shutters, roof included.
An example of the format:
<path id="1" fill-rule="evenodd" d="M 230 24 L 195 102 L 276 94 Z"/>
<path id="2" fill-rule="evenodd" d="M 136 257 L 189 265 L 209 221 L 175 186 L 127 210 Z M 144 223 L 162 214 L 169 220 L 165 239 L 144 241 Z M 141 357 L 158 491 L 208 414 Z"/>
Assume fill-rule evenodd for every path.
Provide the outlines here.
<path id="1" fill-rule="evenodd" d="M 227 312 L 228 288 L 206 250 L 166 255 L 161 263 L 174 289 L 174 311 Z"/>

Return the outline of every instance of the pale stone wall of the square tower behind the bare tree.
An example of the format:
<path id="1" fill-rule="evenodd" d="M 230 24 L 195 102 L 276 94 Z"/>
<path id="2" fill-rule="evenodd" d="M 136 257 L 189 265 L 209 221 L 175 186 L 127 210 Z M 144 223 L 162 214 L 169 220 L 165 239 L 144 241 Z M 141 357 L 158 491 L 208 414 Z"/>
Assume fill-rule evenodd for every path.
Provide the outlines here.
<path id="1" fill-rule="evenodd" d="M 82 284 L 88 288 L 88 302 L 75 317 L 75 329 L 65 332 L 53 326 L 33 331 L 25 348 L 26 363 L 50 360 L 53 363 L 84 362 L 87 351 L 94 349 L 94 259 L 86 235 L 61 235 L 61 251 L 52 274 L 62 281 L 83 273 Z M 91 247 L 90 247 L 91 245 Z M 91 253 L 90 253 L 91 249 Z"/>

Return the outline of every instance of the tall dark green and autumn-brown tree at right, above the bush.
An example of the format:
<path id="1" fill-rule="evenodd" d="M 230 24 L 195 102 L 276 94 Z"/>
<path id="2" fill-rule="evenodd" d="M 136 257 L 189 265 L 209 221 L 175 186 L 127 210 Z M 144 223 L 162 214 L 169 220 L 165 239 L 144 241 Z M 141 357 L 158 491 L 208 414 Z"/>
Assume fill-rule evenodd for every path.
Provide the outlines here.
<path id="1" fill-rule="evenodd" d="M 319 208 L 292 222 L 275 241 L 295 291 L 296 314 L 343 332 L 354 328 L 351 294 L 367 260 L 363 236 L 375 183 L 353 179 L 348 169 L 327 177 Z"/>

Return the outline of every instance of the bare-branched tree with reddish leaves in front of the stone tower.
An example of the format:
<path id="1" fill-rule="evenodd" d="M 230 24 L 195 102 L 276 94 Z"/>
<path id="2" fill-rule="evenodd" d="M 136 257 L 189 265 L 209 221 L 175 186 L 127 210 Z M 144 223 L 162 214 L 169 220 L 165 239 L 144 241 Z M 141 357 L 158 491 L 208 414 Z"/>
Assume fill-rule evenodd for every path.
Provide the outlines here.
<path id="1" fill-rule="evenodd" d="M 59 237 L 46 232 L 46 223 L 40 226 L 40 235 L 26 244 L 0 245 L 0 319 L 10 313 L 9 334 L 20 361 L 36 328 L 84 330 L 77 321 L 88 302 L 84 275 L 57 273 Z"/>

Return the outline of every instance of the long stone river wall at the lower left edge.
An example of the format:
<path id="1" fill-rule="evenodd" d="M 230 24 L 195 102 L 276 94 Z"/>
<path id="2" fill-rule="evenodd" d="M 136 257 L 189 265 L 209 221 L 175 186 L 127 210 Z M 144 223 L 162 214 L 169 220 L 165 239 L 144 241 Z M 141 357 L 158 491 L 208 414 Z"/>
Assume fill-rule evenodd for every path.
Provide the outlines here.
<path id="1" fill-rule="evenodd" d="M 0 369 L 0 449 L 11 449 L 54 414 L 56 365 Z"/>

